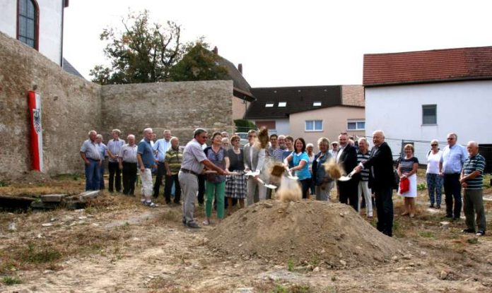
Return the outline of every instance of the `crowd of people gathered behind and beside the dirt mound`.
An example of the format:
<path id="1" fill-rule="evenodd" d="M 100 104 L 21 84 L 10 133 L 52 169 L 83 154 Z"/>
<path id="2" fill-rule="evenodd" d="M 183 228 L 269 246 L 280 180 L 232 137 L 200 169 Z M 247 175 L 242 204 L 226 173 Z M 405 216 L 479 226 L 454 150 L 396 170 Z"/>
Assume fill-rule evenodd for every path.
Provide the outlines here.
<path id="1" fill-rule="evenodd" d="M 107 146 L 90 131 L 89 139 L 81 148 L 81 157 L 86 163 L 86 189 L 103 188 L 101 183 L 102 160 L 108 157 L 108 190 L 120 191 L 120 170 L 123 172 L 123 193 L 134 194 L 136 169 L 140 169 L 142 181 L 142 202 L 156 206 L 151 197 L 159 195 L 160 185 L 165 179 L 165 201 L 174 203 L 182 199 L 183 224 L 197 228 L 194 220 L 194 204 L 198 198 L 205 205 L 206 219 L 203 225 L 211 224 L 215 207 L 220 222 L 227 213 L 232 213 L 235 203 L 244 207 L 254 202 L 271 198 L 271 189 L 265 183 L 279 185 L 269 176 L 273 164 L 283 165 L 291 178 L 296 178 L 302 190 L 302 197 L 314 196 L 319 201 L 329 201 L 330 193 L 336 186 L 341 203 L 361 210 L 365 205 L 368 218 L 373 217 L 373 205 L 377 210 L 377 229 L 392 236 L 393 201 L 395 186 L 394 160 L 382 131 L 373 133 L 373 148 L 366 138 L 354 141 L 347 133 L 340 133 L 338 141 L 330 143 L 328 138 L 317 140 L 318 152 L 314 145 L 303 138 L 293 138 L 261 131 L 250 130 L 248 143 L 240 148 L 240 137 L 228 136 L 226 132 L 209 133 L 203 128 L 194 131 L 194 137 L 184 150 L 179 140 L 170 131 L 163 132 L 163 138 L 153 141 L 155 133 L 151 128 L 144 130 L 144 138 L 135 144 L 135 137 L 129 135 L 128 143 L 119 138 L 120 131 L 112 131 L 112 140 Z M 210 139 L 211 145 L 206 145 Z M 468 154 L 456 144 L 457 136 L 450 133 L 448 145 L 443 151 L 433 140 L 427 155 L 427 181 L 430 207 L 440 208 L 440 190 L 444 182 L 447 217 L 459 218 L 462 208 L 461 188 L 464 188 L 464 213 L 467 229 L 464 232 L 485 234 L 485 214 L 481 202 L 481 179 L 483 179 L 484 157 L 478 154 L 478 144 L 470 142 Z M 331 146 L 331 148 L 330 148 Z M 342 168 L 350 174 L 346 181 L 332 179 L 325 168 L 327 162 Z M 156 168 L 156 180 L 152 180 L 152 169 Z M 404 213 L 414 217 L 417 195 L 416 172 L 418 159 L 414 157 L 414 146 L 405 145 L 404 157 L 397 160 L 396 172 L 401 181 L 408 180 L 407 190 L 399 191 L 404 197 Z M 182 196 L 181 196 L 182 195 Z M 362 201 L 361 201 L 362 199 Z M 454 209 L 453 209 L 454 202 Z M 476 213 L 478 230 L 475 229 L 473 214 Z"/>

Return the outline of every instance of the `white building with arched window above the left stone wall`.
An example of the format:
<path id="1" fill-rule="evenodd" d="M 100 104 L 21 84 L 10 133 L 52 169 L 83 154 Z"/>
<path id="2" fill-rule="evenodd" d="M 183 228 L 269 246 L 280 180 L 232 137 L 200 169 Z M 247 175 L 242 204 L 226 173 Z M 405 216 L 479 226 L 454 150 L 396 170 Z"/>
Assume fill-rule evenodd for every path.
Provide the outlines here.
<path id="1" fill-rule="evenodd" d="M 61 66 L 67 6 L 69 0 L 0 0 L 0 31 Z"/>

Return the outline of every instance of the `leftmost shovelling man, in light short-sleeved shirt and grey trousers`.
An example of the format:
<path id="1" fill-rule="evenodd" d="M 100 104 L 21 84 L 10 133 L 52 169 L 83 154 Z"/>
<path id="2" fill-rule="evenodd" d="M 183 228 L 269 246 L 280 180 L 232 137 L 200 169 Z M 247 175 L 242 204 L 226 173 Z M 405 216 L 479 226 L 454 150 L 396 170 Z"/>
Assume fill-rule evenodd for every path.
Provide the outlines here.
<path id="1" fill-rule="evenodd" d="M 228 174 L 223 169 L 210 162 L 201 149 L 207 139 L 207 132 L 203 128 L 197 128 L 193 132 L 193 139 L 187 143 L 183 151 L 181 169 L 177 177 L 180 181 L 183 196 L 183 219 L 187 227 L 199 228 L 194 221 L 194 202 L 198 192 L 198 175 L 203 171 L 204 165 L 218 174 Z"/>

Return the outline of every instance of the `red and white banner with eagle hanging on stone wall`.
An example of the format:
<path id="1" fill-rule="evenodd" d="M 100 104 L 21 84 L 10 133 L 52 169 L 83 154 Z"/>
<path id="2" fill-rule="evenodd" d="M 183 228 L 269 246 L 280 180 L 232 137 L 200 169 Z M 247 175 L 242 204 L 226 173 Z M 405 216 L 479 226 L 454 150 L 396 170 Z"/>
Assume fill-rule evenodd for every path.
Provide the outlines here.
<path id="1" fill-rule="evenodd" d="M 42 127 L 41 127 L 41 96 L 29 91 L 30 115 L 30 152 L 33 158 L 33 170 L 43 171 L 42 164 Z"/>

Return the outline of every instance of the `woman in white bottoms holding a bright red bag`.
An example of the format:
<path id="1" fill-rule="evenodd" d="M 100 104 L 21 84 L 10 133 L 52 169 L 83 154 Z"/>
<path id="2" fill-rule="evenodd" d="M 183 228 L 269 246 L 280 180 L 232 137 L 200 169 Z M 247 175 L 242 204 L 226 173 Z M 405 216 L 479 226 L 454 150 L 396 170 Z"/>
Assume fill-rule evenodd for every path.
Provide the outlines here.
<path id="1" fill-rule="evenodd" d="M 417 169 L 418 159 L 414 157 L 414 145 L 408 144 L 404 147 L 405 157 L 398 163 L 398 176 L 400 182 L 409 180 L 409 190 L 398 190 L 398 194 L 404 197 L 404 212 L 402 215 L 415 216 L 415 198 L 417 197 Z M 401 186 L 401 184 L 400 184 Z"/>

